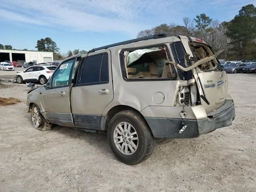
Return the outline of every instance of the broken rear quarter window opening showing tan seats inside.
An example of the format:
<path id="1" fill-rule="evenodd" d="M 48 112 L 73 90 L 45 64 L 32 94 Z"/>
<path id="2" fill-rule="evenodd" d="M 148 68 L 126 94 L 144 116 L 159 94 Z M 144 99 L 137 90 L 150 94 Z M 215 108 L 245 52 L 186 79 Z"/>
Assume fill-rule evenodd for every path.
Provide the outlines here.
<path id="1" fill-rule="evenodd" d="M 175 78 L 172 65 L 165 61 L 168 60 L 165 47 L 124 51 L 121 57 L 124 59 L 126 79 Z"/>

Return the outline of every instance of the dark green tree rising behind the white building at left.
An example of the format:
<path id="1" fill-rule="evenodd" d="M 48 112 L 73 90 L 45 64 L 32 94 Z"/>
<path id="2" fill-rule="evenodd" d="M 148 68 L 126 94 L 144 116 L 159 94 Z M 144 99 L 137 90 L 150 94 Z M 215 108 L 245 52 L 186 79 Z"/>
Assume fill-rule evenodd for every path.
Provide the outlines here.
<path id="1" fill-rule="evenodd" d="M 38 51 L 50 51 L 54 53 L 57 53 L 59 50 L 57 44 L 49 37 L 37 40 L 36 48 Z"/>

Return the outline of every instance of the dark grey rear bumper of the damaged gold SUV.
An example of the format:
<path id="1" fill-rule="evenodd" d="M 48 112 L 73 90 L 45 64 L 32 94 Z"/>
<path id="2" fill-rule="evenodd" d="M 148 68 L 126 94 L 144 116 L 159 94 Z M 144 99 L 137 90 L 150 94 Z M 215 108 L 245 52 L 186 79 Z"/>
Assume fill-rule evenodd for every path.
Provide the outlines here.
<path id="1" fill-rule="evenodd" d="M 232 100 L 226 100 L 223 107 L 201 120 L 184 119 L 187 128 L 180 134 L 182 119 L 145 118 L 155 138 L 196 138 L 218 128 L 232 125 L 235 118 L 235 106 Z"/>

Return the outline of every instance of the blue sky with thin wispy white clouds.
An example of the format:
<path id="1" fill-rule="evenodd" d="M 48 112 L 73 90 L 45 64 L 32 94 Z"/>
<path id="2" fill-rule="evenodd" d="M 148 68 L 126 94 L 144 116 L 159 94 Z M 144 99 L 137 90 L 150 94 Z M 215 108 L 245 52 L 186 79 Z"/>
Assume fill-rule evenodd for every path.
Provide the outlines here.
<path id="1" fill-rule="evenodd" d="M 183 17 L 230 21 L 248 4 L 256 0 L 0 0 L 0 44 L 36 50 L 50 37 L 61 53 L 88 51 Z"/>

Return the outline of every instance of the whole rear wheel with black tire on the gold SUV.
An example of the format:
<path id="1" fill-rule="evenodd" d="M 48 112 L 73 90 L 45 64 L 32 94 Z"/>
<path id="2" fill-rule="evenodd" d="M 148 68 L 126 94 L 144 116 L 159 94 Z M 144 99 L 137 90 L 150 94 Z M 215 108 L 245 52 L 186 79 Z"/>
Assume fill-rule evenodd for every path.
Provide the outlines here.
<path id="1" fill-rule="evenodd" d="M 118 160 L 128 165 L 149 158 L 156 144 L 144 118 L 133 110 L 118 112 L 110 120 L 108 143 Z"/>

